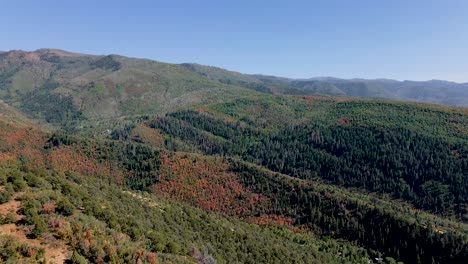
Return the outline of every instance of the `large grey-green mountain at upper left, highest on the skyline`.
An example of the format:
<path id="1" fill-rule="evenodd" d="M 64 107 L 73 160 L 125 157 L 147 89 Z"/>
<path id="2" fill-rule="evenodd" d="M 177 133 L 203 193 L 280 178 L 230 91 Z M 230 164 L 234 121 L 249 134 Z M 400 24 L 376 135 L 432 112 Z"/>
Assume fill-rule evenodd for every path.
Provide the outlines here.
<path id="1" fill-rule="evenodd" d="M 51 49 L 0 54 L 0 99 L 31 118 L 70 130 L 251 93 L 180 65 L 145 59 Z"/>

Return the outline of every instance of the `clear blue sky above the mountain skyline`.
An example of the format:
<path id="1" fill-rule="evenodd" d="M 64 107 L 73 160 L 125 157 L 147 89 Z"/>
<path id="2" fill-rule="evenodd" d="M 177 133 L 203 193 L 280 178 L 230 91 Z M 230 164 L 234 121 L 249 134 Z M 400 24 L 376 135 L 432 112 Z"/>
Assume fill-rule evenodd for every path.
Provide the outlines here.
<path id="1" fill-rule="evenodd" d="M 468 82 L 467 0 L 0 0 L 0 50 Z"/>

